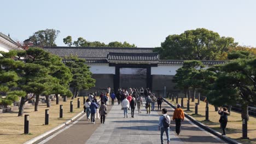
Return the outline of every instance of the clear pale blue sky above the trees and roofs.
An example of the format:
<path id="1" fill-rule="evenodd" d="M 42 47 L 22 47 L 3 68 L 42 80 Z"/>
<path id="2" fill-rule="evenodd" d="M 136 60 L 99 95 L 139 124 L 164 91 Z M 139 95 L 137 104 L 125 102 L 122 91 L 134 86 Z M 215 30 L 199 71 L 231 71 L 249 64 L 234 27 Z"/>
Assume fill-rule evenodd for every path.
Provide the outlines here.
<path id="1" fill-rule="evenodd" d="M 8 0 L 0 7 L 0 32 L 18 41 L 53 28 L 60 31 L 57 46 L 65 46 L 63 38 L 71 35 L 158 47 L 168 35 L 207 28 L 256 47 L 254 0 Z"/>

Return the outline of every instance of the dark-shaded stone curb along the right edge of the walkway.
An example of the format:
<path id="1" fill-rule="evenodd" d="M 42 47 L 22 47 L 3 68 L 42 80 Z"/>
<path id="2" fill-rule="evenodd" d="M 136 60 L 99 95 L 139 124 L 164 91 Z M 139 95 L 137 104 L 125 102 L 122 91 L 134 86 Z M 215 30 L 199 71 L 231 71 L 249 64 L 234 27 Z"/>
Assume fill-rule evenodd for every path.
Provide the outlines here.
<path id="1" fill-rule="evenodd" d="M 173 104 L 171 104 L 171 103 L 170 103 L 169 101 L 167 101 L 165 98 L 163 98 L 163 99 L 164 99 L 165 103 L 167 103 L 168 105 L 170 105 L 173 109 L 176 109 L 176 107 L 175 107 Z M 207 127 L 205 124 L 202 124 L 202 123 L 196 121 L 196 119 L 194 119 L 193 117 L 189 116 L 189 115 L 188 115 L 187 113 L 185 113 L 185 112 L 184 112 L 184 115 L 185 115 L 185 117 L 188 118 L 191 122 L 193 122 L 194 124 L 196 124 L 196 125 L 199 126 L 200 128 L 202 128 L 202 129 L 208 131 L 209 133 L 211 133 L 211 134 L 213 134 L 213 135 L 219 137 L 220 139 L 222 139 L 222 140 L 224 140 L 224 141 L 226 141 L 226 142 L 228 142 L 228 143 L 232 143 L 232 144 L 241 144 L 240 142 L 237 142 L 237 141 L 235 141 L 235 140 L 232 140 L 232 139 L 230 139 L 229 137 L 223 136 L 223 135 L 220 134 L 219 132 L 217 132 L 217 131 L 215 131 L 215 130 L 209 128 L 209 127 Z"/>

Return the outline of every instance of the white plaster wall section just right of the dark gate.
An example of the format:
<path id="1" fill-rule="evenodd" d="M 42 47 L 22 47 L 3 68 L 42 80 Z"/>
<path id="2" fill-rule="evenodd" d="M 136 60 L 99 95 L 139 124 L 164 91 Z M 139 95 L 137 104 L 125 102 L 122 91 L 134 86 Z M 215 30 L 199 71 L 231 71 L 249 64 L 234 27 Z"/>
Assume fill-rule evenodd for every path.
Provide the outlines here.
<path id="1" fill-rule="evenodd" d="M 175 75 L 176 70 L 182 65 L 158 65 L 158 67 L 151 67 L 151 75 Z"/>

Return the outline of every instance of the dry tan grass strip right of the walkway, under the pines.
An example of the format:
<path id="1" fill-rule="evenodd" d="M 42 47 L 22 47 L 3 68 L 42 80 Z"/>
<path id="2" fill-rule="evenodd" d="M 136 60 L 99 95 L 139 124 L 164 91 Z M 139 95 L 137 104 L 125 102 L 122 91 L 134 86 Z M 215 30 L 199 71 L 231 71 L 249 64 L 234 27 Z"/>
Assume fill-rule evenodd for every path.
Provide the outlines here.
<path id="1" fill-rule="evenodd" d="M 176 105 L 176 99 L 174 101 L 167 99 L 172 104 Z M 179 98 L 178 103 L 181 104 L 181 98 Z M 193 116 L 197 121 L 207 125 L 208 127 L 219 131 L 222 133 L 219 124 L 219 115 L 218 112 L 214 111 L 214 106 L 209 104 L 209 119 L 210 121 L 205 121 L 205 107 L 206 103 L 200 101 L 200 105 L 198 105 L 198 115 L 195 115 L 195 103 L 197 103 L 197 99 L 195 102 L 191 102 L 190 100 L 190 111 L 187 111 L 187 98 L 184 98 L 184 107 L 183 110 L 188 115 Z M 231 111 L 231 115 L 228 117 L 229 122 L 226 126 L 226 135 L 231 139 L 235 139 L 240 141 L 241 143 L 256 143 L 256 117 L 250 116 L 248 121 L 248 137 L 249 140 L 241 140 L 242 137 L 242 120 L 241 113 Z"/>

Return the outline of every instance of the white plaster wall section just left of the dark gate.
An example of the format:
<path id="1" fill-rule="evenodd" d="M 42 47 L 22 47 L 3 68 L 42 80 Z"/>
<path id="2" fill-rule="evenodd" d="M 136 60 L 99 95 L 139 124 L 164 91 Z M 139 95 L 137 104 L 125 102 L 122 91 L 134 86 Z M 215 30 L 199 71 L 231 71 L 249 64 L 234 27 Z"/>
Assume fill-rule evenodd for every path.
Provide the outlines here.
<path id="1" fill-rule="evenodd" d="M 89 64 L 88 64 L 89 65 Z M 115 74 L 115 67 L 107 65 L 89 65 L 92 74 Z"/>

